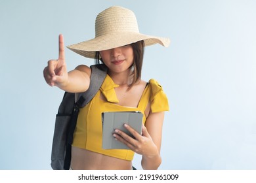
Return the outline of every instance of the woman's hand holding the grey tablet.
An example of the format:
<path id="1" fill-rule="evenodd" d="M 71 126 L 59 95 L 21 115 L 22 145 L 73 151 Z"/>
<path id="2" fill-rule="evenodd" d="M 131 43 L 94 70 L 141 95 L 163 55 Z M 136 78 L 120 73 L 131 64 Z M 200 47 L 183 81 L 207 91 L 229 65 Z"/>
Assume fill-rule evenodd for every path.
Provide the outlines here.
<path id="1" fill-rule="evenodd" d="M 125 124 L 124 126 L 135 137 L 135 139 L 133 139 L 123 131 L 116 129 L 113 136 L 117 141 L 122 142 L 137 154 L 141 154 L 146 157 L 157 156 L 159 154 L 158 147 L 152 141 L 152 138 L 150 137 L 150 134 L 148 133 L 148 130 L 144 125 L 142 126 L 141 135 L 131 126 L 127 124 Z"/>

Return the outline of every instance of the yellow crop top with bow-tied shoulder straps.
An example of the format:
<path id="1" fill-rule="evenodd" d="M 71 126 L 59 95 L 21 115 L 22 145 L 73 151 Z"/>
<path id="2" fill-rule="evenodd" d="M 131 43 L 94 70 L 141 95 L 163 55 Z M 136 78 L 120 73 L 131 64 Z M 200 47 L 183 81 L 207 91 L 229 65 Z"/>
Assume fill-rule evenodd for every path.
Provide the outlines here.
<path id="1" fill-rule="evenodd" d="M 169 105 L 160 84 L 154 79 L 148 82 L 137 108 L 123 107 L 116 104 L 119 103 L 114 90 L 117 87 L 118 85 L 107 75 L 95 97 L 93 97 L 90 103 L 80 109 L 72 146 L 131 161 L 134 156 L 132 150 L 102 149 L 102 112 L 140 111 L 143 114 L 143 123 L 145 123 L 146 116 L 144 111 L 149 100 L 151 101 L 152 112 L 167 111 L 169 110 Z M 100 93 L 106 97 L 106 101 L 100 99 Z"/>

